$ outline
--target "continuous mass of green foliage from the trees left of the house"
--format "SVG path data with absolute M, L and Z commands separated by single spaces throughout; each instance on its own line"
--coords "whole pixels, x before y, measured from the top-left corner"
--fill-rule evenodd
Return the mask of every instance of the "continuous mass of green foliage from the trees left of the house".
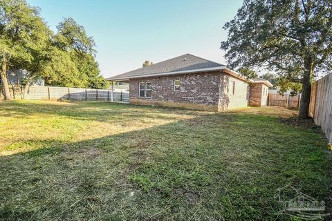
M 0 1 L 0 62 L 27 70 L 27 86 L 42 77 L 52 86 L 106 88 L 94 47 L 92 37 L 71 18 L 59 23 L 54 35 L 26 0 Z

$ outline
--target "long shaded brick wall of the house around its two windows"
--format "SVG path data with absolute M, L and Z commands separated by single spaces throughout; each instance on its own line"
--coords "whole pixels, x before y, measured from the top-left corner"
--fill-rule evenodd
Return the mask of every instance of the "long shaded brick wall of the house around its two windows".
M 130 79 L 129 99 L 218 105 L 220 74 L 210 72 Z M 174 91 L 174 79 L 181 81 L 179 91 Z M 146 81 L 151 82 L 151 98 L 138 96 L 139 82 Z

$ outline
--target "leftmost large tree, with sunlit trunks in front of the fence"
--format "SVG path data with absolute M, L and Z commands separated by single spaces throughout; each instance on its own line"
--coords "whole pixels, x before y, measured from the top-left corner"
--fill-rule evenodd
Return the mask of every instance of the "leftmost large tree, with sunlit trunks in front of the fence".
M 50 59 L 51 36 L 38 8 L 29 6 L 25 0 L 0 1 L 1 78 L 6 99 L 8 82 L 3 77 L 8 68 L 27 70 L 25 95 L 31 81 L 39 77 Z

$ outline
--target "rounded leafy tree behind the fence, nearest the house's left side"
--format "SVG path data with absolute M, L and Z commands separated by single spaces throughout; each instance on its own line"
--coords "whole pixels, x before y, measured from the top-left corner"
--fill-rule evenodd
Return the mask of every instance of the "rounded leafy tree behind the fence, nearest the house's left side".
M 53 45 L 59 51 L 54 49 L 46 82 L 56 86 L 107 88 L 107 81 L 100 75 L 95 61 L 95 41 L 86 35 L 84 27 L 74 19 L 66 18 L 57 30 Z M 67 55 L 63 57 L 63 53 Z M 65 65 L 61 65 L 62 62 Z

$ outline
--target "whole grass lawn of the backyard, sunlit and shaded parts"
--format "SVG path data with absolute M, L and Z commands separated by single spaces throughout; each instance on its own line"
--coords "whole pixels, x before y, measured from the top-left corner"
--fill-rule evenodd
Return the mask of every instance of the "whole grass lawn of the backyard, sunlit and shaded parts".
M 0 220 L 289 220 L 286 185 L 331 208 L 331 151 L 295 114 L 0 102 Z

